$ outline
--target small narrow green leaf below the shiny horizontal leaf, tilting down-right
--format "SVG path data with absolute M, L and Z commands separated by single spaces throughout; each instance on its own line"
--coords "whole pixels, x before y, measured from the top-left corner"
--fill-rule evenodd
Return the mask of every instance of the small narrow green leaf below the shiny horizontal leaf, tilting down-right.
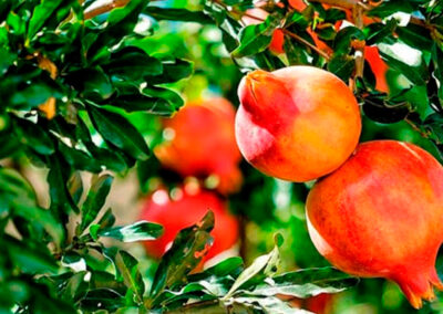
M 136 302 L 143 304 L 145 285 L 142 274 L 138 271 L 137 261 L 130 253 L 119 251 L 115 258 L 115 263 L 123 275 L 125 285 L 134 292 Z

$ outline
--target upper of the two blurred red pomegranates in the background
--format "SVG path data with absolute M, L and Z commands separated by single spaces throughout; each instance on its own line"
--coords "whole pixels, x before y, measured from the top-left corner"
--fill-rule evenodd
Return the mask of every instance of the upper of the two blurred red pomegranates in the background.
M 187 103 L 163 121 L 166 140 L 154 153 L 165 167 L 184 177 L 215 175 L 218 191 L 237 191 L 243 177 L 234 121 L 234 106 L 225 98 Z

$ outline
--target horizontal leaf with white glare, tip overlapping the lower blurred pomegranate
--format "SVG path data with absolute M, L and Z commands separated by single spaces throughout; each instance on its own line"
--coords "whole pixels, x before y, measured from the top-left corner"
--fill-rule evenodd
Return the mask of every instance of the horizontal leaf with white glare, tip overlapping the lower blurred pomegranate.
M 100 237 L 113 238 L 123 242 L 155 240 L 163 234 L 161 224 L 138 221 L 124 227 L 106 228 L 99 231 Z

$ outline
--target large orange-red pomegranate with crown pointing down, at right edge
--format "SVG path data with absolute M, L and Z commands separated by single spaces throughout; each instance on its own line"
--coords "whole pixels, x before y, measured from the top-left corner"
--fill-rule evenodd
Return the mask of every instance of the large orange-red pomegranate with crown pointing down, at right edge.
M 396 282 L 415 308 L 443 289 L 443 168 L 422 148 L 395 140 L 361 144 L 307 200 L 309 234 L 343 272 Z

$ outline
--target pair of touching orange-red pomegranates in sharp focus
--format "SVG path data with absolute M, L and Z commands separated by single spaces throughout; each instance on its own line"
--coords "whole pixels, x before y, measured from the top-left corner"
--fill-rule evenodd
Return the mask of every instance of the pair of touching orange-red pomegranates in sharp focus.
M 395 281 L 412 306 L 443 289 L 443 167 L 396 140 L 358 145 L 361 117 L 333 74 L 290 66 L 247 74 L 235 122 L 243 156 L 266 175 L 317 179 L 306 206 L 318 251 L 340 270 Z

